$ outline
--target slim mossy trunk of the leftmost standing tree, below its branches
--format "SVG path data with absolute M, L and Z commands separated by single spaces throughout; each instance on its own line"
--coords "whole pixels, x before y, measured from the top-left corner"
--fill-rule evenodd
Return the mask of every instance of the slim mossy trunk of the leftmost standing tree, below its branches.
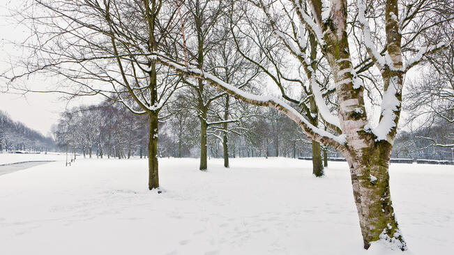
M 150 130 L 148 144 L 148 167 L 149 167 L 149 190 L 159 187 L 158 176 L 158 113 L 152 111 L 149 114 Z

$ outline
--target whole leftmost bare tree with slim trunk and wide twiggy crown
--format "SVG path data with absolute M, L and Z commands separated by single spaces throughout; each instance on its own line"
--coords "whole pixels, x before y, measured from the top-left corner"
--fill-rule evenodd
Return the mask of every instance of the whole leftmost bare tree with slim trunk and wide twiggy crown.
M 15 63 L 10 85 L 18 88 L 20 78 L 44 72 L 62 78 L 61 87 L 52 91 L 70 96 L 104 95 L 135 114 L 148 116 L 149 189 L 158 188 L 159 112 L 176 90 L 179 76 L 167 68 L 158 68 L 148 56 L 150 52 L 171 52 L 174 48 L 169 38 L 175 27 L 174 3 L 149 0 L 27 3 L 27 9 L 17 15 L 33 31 L 33 36 L 22 45 L 31 56 L 22 65 Z

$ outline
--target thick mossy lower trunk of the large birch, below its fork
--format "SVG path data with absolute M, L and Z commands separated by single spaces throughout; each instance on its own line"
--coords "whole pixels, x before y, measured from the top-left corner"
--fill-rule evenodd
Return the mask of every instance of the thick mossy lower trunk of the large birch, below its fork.
M 370 247 L 370 242 L 380 239 L 396 242 L 402 250 L 406 249 L 389 190 L 391 148 L 382 141 L 376 148 L 364 148 L 362 157 L 355 153 L 346 156 L 365 249 Z

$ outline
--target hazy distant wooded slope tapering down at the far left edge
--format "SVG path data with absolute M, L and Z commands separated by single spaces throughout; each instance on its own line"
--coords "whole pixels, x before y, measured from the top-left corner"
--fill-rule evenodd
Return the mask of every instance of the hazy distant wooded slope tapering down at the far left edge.
M 0 111 L 0 152 L 13 150 L 42 152 L 54 148 L 54 140 L 51 137 L 45 137 L 23 123 L 13 121 L 8 114 Z

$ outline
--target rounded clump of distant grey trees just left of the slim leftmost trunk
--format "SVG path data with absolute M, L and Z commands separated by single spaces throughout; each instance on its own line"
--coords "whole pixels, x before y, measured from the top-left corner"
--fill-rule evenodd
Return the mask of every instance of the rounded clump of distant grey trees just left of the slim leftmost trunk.
M 60 150 L 84 157 L 130 158 L 146 155 L 147 120 L 112 103 L 75 107 L 52 127 Z

